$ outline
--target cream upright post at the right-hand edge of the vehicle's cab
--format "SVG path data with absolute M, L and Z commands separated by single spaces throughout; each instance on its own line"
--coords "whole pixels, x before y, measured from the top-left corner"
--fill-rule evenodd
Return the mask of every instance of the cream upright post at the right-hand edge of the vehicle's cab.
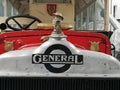
M 104 29 L 108 31 L 109 29 L 109 0 L 104 0 L 105 10 L 104 10 Z

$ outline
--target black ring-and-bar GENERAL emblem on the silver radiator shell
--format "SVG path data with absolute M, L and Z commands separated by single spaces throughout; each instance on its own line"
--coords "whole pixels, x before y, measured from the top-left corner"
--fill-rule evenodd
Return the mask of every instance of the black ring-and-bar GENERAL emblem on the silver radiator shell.
M 57 51 L 62 51 L 62 53 Z M 50 72 L 62 73 L 67 71 L 72 64 L 83 64 L 83 56 L 72 54 L 64 45 L 55 44 L 48 47 L 44 54 L 33 54 L 32 63 L 44 64 Z

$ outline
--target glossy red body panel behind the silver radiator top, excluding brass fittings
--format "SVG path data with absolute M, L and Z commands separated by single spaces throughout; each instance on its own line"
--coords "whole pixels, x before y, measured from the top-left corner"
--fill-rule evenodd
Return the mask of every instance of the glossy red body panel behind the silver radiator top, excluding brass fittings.
M 0 35 L 0 54 L 6 52 L 4 41 L 13 41 L 14 50 L 39 46 L 41 36 L 50 35 L 52 30 L 34 30 L 6 32 Z M 111 45 L 107 36 L 94 32 L 64 31 L 67 40 L 81 49 L 90 50 L 91 42 L 99 42 L 99 52 L 111 54 Z

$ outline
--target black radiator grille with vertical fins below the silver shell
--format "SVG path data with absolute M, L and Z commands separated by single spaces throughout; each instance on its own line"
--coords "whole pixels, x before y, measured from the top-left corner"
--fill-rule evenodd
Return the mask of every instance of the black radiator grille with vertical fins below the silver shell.
M 1 77 L 0 90 L 120 90 L 120 78 Z

